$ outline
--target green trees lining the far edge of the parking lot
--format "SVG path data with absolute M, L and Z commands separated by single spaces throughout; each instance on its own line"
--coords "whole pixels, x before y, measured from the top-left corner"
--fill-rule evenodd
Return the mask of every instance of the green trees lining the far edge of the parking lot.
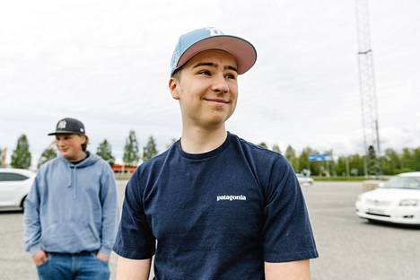
M 173 143 L 175 139 L 172 139 Z M 258 145 L 269 149 L 264 142 Z M 271 150 L 276 153 L 282 153 L 278 144 L 274 144 Z M 1 149 L 0 149 L 1 153 Z M 153 158 L 159 151 L 157 150 L 155 139 L 149 136 L 143 150 L 140 150 L 136 132 L 129 131 L 126 144 L 124 146 L 123 162 L 127 165 L 137 165 L 140 161 L 147 161 Z M 366 155 L 358 153 L 339 156 L 329 162 L 310 162 L 311 154 L 319 153 L 319 151 L 306 147 L 300 153 L 297 153 L 291 145 L 287 146 L 284 156 L 292 164 L 294 171 L 310 172 L 314 176 L 363 176 L 366 169 L 366 162 L 372 157 L 376 157 L 374 152 Z M 331 156 L 333 151 L 324 151 Z M 115 157 L 112 154 L 112 148 L 107 139 L 101 141 L 96 150 L 96 154 L 101 156 L 110 165 L 115 163 Z M 55 148 L 49 147 L 39 157 L 38 167 L 44 163 L 57 157 Z M 1 158 L 1 154 L 0 154 Z M 420 171 L 420 147 L 416 149 L 404 148 L 401 153 L 393 149 L 387 149 L 377 157 L 380 162 L 379 170 L 384 175 L 395 175 L 401 172 Z M 19 137 L 16 148 L 13 150 L 11 165 L 14 168 L 28 169 L 31 166 L 31 152 L 29 148 L 28 138 L 25 135 Z

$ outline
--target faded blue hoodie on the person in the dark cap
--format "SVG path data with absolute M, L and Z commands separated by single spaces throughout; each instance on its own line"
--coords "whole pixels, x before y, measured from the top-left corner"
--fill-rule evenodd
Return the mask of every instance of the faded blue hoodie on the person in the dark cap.
M 108 255 L 118 223 L 117 188 L 109 164 L 95 154 L 74 165 L 43 164 L 24 203 L 25 249 L 32 255 L 99 250 Z

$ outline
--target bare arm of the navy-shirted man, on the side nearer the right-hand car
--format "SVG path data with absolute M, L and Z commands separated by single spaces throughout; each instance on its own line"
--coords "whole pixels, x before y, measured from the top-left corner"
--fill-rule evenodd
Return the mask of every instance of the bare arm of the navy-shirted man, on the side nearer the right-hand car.
M 311 279 L 310 273 L 310 260 L 296 260 L 290 262 L 280 263 L 264 263 L 264 269 L 267 280 L 309 280 Z

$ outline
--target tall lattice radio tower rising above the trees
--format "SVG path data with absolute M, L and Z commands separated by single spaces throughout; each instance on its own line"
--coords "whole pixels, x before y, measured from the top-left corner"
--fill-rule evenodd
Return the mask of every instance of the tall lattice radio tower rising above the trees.
M 364 153 L 366 155 L 364 175 L 379 175 L 381 164 L 378 156 L 381 155 L 381 145 L 368 0 L 355 0 L 355 4 L 359 45 L 357 57 L 359 60 L 359 84 L 362 100 L 363 140 Z

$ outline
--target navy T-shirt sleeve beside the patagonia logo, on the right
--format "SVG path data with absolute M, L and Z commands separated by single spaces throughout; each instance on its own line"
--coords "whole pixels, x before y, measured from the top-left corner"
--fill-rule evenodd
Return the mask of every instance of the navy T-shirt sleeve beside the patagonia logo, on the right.
M 318 258 L 301 186 L 283 157 L 273 163 L 265 192 L 264 260 Z

